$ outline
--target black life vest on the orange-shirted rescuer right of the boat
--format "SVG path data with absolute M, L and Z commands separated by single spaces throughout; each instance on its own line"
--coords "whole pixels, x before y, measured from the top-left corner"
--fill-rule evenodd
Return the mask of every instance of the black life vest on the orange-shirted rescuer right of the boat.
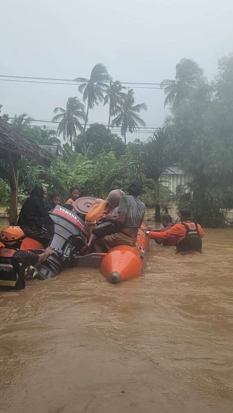
M 176 247 L 177 253 L 198 251 L 201 253 L 202 241 L 196 222 L 181 222 L 186 228 L 186 235 Z

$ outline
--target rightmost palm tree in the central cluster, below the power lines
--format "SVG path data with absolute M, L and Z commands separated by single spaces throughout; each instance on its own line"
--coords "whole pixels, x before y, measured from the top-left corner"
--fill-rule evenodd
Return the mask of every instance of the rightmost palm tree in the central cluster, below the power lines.
M 112 121 L 111 127 L 121 127 L 120 133 L 124 137 L 124 143 L 126 144 L 126 132 L 135 132 L 138 129 L 138 125 L 146 126 L 144 120 L 137 115 L 141 110 L 146 111 L 147 105 L 145 103 L 138 103 L 135 105 L 135 99 L 133 97 L 133 89 L 129 89 L 128 93 L 124 93 L 122 102 L 116 106 L 115 114 L 118 114 Z

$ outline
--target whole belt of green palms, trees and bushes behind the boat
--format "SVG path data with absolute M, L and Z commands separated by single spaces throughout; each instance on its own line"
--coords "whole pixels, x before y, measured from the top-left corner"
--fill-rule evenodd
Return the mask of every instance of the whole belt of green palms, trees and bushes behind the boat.
M 145 142 L 126 143 L 127 132 L 145 126 L 139 113 L 147 106 L 135 102 L 133 89 L 126 92 L 103 64 L 93 67 L 90 79 L 75 80 L 81 83 L 78 89 L 86 112 L 77 96 L 69 97 L 66 109 L 54 109 L 57 132 L 33 126 L 33 118 L 26 113 L 12 120 L 28 139 L 40 145 L 59 145 L 62 153 L 58 158 L 51 153 L 50 168 L 21 159 L 20 199 L 39 182 L 50 191 L 59 191 L 66 200 L 72 185 L 104 198 L 110 190 L 126 190 L 130 180 L 139 179 L 145 187 L 141 199 L 155 207 L 156 221 L 160 210 L 166 211 L 175 199 L 178 207 L 190 206 L 204 226 L 224 225 L 224 210 L 233 208 L 233 54 L 219 61 L 212 82 L 196 62 L 182 59 L 176 65 L 175 79 L 161 83 L 165 106 L 170 109 L 165 126 Z M 107 127 L 93 124 L 86 128 L 89 110 L 100 103 L 109 105 Z M 9 121 L 7 114 L 1 116 Z M 111 127 L 120 128 L 124 142 Z M 67 143 L 62 145 L 59 137 Z M 166 170 L 174 163 L 190 176 L 186 193 L 178 186 L 176 196 L 163 186 Z M 7 169 L 7 161 L 2 159 L 1 170 L 6 174 L 4 181 L 0 180 L 1 205 L 9 202 Z

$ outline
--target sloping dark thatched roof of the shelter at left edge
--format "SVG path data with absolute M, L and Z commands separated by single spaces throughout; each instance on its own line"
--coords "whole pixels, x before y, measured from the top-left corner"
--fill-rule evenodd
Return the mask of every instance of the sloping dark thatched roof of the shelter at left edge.
M 35 159 L 40 164 L 50 165 L 48 153 L 36 143 L 29 141 L 22 133 L 0 117 L 0 149 Z

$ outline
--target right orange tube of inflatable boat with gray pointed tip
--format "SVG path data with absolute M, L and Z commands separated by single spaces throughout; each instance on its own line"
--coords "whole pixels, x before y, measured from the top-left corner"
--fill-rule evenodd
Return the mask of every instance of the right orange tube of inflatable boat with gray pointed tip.
M 143 227 L 147 228 L 144 222 L 138 230 L 136 247 L 119 245 L 104 254 L 100 272 L 111 283 L 115 284 L 142 275 L 144 256 L 148 246 L 148 237 Z

